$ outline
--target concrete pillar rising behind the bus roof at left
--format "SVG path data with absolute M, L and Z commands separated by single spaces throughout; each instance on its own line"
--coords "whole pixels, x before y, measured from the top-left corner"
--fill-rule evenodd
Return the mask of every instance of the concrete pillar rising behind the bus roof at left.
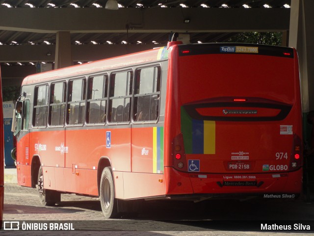
M 71 37 L 69 31 L 58 31 L 55 43 L 54 69 L 72 66 Z

